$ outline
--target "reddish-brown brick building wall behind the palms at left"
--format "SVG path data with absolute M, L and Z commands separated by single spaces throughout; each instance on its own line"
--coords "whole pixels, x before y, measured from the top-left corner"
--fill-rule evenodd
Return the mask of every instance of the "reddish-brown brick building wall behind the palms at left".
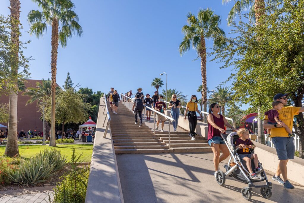
M 40 82 L 41 80 L 25 80 L 24 85 L 26 88 L 28 87 L 35 87 L 36 82 Z M 28 96 L 22 96 L 23 92 L 18 93 L 18 108 L 17 108 L 17 115 L 18 115 L 18 132 L 22 129 L 24 131 L 42 131 L 42 121 L 40 117 L 42 113 L 39 111 L 39 107 L 37 107 L 37 103 L 32 103 L 26 105 L 26 102 L 29 100 Z M 2 95 L 0 96 L 0 103 L 9 103 L 9 95 Z M 8 126 L 8 123 L 1 123 L 2 125 Z M 46 130 L 48 126 L 45 126 Z M 2 128 L 3 129 L 3 128 Z M 48 135 L 48 131 L 45 131 L 46 135 Z

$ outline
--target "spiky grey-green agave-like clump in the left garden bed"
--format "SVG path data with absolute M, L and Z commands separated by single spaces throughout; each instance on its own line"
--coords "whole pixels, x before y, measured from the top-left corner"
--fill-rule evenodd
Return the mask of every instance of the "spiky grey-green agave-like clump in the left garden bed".
M 55 170 L 64 167 L 66 157 L 58 149 L 44 149 L 32 158 L 21 162 L 15 172 L 9 174 L 15 184 L 35 185 L 46 181 Z

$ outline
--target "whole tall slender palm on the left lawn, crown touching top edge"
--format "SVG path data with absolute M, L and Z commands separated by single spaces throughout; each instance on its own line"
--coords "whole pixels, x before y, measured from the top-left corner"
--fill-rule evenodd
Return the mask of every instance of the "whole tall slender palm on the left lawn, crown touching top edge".
M 56 146 L 55 142 L 55 92 L 56 92 L 56 72 L 57 72 L 57 55 L 58 44 L 60 42 L 62 47 L 67 46 L 67 39 L 73 34 L 81 37 L 83 31 L 78 24 L 78 15 L 74 12 L 74 3 L 70 0 L 33 0 L 42 9 L 31 10 L 27 16 L 30 26 L 30 33 L 35 34 L 36 37 L 42 37 L 43 33 L 47 31 L 47 24 L 52 26 L 51 36 L 51 136 L 50 146 Z

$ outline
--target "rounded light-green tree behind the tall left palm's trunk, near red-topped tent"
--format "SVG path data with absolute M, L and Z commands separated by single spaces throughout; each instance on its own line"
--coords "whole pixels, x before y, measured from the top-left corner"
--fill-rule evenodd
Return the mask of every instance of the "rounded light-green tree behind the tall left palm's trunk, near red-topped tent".
M 62 125 L 64 131 L 64 124 L 80 123 L 88 118 L 88 110 L 91 105 L 83 103 L 83 96 L 75 93 L 73 89 L 60 91 L 56 95 L 56 122 Z M 51 100 L 47 101 L 47 106 L 44 108 L 44 115 L 47 121 L 51 118 Z M 40 110 L 42 107 L 40 107 Z

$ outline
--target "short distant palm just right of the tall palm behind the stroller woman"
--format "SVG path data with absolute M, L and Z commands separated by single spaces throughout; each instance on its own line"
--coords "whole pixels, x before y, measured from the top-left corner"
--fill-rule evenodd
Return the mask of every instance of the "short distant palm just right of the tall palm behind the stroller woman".
M 226 103 L 232 100 L 233 92 L 228 87 L 217 87 L 216 91 L 211 95 L 210 103 L 218 103 L 221 105 L 222 114 L 225 114 Z

